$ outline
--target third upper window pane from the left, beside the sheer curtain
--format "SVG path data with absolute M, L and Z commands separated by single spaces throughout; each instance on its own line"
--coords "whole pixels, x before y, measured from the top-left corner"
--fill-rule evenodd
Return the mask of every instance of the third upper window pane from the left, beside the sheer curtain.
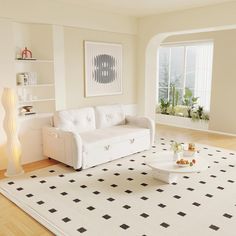
M 197 46 L 186 47 L 186 82 L 185 87 L 194 89 L 196 73 L 196 50 Z

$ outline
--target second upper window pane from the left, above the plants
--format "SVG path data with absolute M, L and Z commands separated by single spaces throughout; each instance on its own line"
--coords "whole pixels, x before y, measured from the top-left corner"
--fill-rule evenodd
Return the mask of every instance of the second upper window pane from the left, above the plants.
M 170 82 L 183 88 L 184 78 L 184 47 L 171 48 Z

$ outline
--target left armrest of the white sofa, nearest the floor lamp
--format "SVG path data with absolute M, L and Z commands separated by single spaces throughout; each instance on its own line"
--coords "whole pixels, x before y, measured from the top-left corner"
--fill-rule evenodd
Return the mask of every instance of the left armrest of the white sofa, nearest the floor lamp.
M 76 132 L 43 127 L 43 154 L 79 169 L 83 161 L 81 137 Z

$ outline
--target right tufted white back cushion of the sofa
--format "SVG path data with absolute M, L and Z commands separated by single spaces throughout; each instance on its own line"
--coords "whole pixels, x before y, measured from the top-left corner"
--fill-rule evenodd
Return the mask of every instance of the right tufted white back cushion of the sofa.
M 95 114 L 97 129 L 125 124 L 125 112 L 122 105 L 97 106 Z

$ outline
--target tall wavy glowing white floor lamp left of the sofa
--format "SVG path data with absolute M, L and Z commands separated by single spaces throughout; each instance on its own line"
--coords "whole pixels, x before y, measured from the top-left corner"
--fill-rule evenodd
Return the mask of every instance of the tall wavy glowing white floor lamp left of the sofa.
M 2 104 L 5 109 L 3 127 L 7 136 L 8 165 L 5 176 L 16 176 L 24 173 L 21 166 L 21 145 L 17 135 L 17 102 L 13 88 L 4 88 Z

